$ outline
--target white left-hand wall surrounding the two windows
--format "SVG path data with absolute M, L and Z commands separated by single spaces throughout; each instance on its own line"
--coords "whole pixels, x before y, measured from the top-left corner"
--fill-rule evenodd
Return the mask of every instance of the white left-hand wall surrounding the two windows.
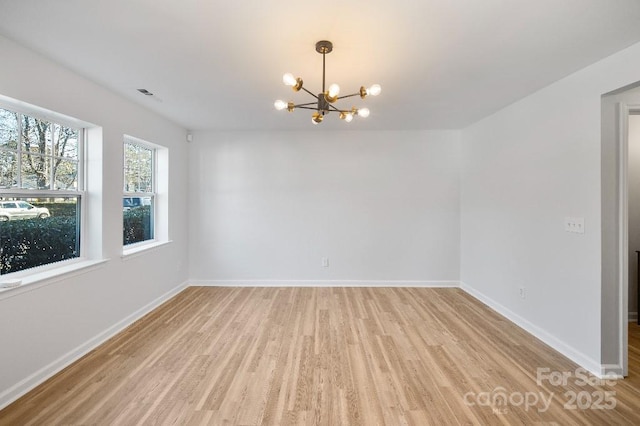
M 88 221 L 102 230 L 102 252 L 109 259 L 84 273 L 34 285 L 32 291 L 0 294 L 2 407 L 88 349 L 101 333 L 186 282 L 188 184 L 184 129 L 2 37 L 0 52 L 0 94 L 102 127 L 102 152 L 97 153 L 102 163 L 89 166 L 103 168 L 103 180 L 91 195 L 100 198 L 102 210 L 91 212 Z M 120 256 L 123 134 L 170 150 L 173 240 L 126 261 Z M 96 142 L 89 141 L 89 150 L 100 149 Z

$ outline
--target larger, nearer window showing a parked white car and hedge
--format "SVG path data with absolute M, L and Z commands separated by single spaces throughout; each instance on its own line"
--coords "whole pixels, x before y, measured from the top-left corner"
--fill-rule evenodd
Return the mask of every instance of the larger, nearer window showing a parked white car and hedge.
M 0 107 L 0 275 L 80 256 L 83 138 Z

